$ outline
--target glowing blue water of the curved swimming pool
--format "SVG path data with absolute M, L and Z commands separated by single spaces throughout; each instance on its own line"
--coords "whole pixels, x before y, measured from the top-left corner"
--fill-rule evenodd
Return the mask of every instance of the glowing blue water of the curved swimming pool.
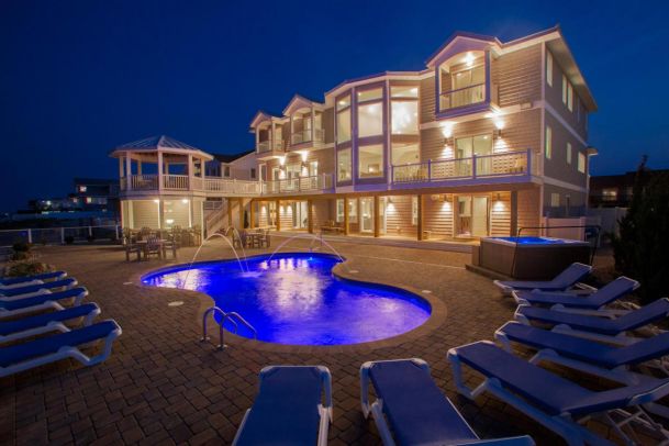
M 271 261 L 268 256 L 249 258 L 248 272 L 242 272 L 236 260 L 224 260 L 196 264 L 190 272 L 188 267 L 160 270 L 142 281 L 207 293 L 225 312 L 236 311 L 247 320 L 259 341 L 278 344 L 379 341 L 430 317 L 430 304 L 413 293 L 334 277 L 337 263 L 324 254 L 281 254 Z M 242 326 L 237 334 L 252 337 Z

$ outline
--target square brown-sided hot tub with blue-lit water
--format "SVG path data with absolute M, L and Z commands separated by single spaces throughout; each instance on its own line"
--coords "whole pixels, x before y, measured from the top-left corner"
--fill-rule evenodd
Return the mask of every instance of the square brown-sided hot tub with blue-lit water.
M 590 264 L 588 242 L 550 237 L 481 238 L 478 265 L 522 280 L 549 280 L 575 261 Z

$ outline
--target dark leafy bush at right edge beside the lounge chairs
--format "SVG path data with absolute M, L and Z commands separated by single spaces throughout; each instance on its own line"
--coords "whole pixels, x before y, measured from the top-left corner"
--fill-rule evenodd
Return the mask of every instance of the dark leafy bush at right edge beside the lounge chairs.
M 637 170 L 632 202 L 612 237 L 615 268 L 638 280 L 644 304 L 669 296 L 669 175 Z

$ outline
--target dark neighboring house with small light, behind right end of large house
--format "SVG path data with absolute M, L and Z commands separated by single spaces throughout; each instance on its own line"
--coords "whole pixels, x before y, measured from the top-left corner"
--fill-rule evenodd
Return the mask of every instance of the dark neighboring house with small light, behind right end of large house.
M 648 181 L 654 175 L 669 174 L 669 169 L 646 170 L 644 180 Z M 590 177 L 591 208 L 627 208 L 632 201 L 636 171 L 621 175 L 599 175 Z

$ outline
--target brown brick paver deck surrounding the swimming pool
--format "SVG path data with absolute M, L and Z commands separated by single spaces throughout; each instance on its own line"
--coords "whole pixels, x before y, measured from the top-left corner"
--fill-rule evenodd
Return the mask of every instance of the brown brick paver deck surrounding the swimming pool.
M 272 243 L 276 247 L 280 239 Z M 303 250 L 310 244 L 293 241 L 283 250 Z M 213 344 L 199 342 L 201 312 L 212 303 L 207 296 L 140 285 L 143 274 L 174 260 L 126 263 L 119 246 L 38 248 L 43 261 L 67 270 L 89 289 L 88 300 L 102 309 L 100 319 L 115 319 L 123 335 L 101 365 L 85 368 L 63 360 L 0 379 L 0 443 L 230 444 L 253 402 L 263 367 L 319 364 L 333 376 L 330 444 L 380 444 L 373 422 L 364 420 L 359 409 L 359 367 L 372 359 L 420 357 L 479 436 L 529 434 L 537 444 L 559 444 L 559 437 L 499 400 L 484 395 L 470 402 L 455 391 L 448 348 L 491 339 L 515 310 L 490 279 L 465 269 L 469 254 L 333 245 L 347 258 L 346 268 L 358 271 L 337 267 L 342 275 L 428 290 L 424 296 L 436 302 L 438 314 L 427 326 L 379 343 L 277 347 L 227 336 L 228 348 L 218 352 Z M 248 249 L 247 254 L 261 252 Z M 181 249 L 178 263 L 188 263 L 193 253 L 193 248 Z M 212 241 L 198 259 L 231 257 L 230 248 Z M 172 301 L 183 304 L 169 306 Z M 473 373 L 468 371 L 467 377 L 468 382 L 477 382 Z M 610 435 L 601 423 L 590 422 L 590 427 Z

